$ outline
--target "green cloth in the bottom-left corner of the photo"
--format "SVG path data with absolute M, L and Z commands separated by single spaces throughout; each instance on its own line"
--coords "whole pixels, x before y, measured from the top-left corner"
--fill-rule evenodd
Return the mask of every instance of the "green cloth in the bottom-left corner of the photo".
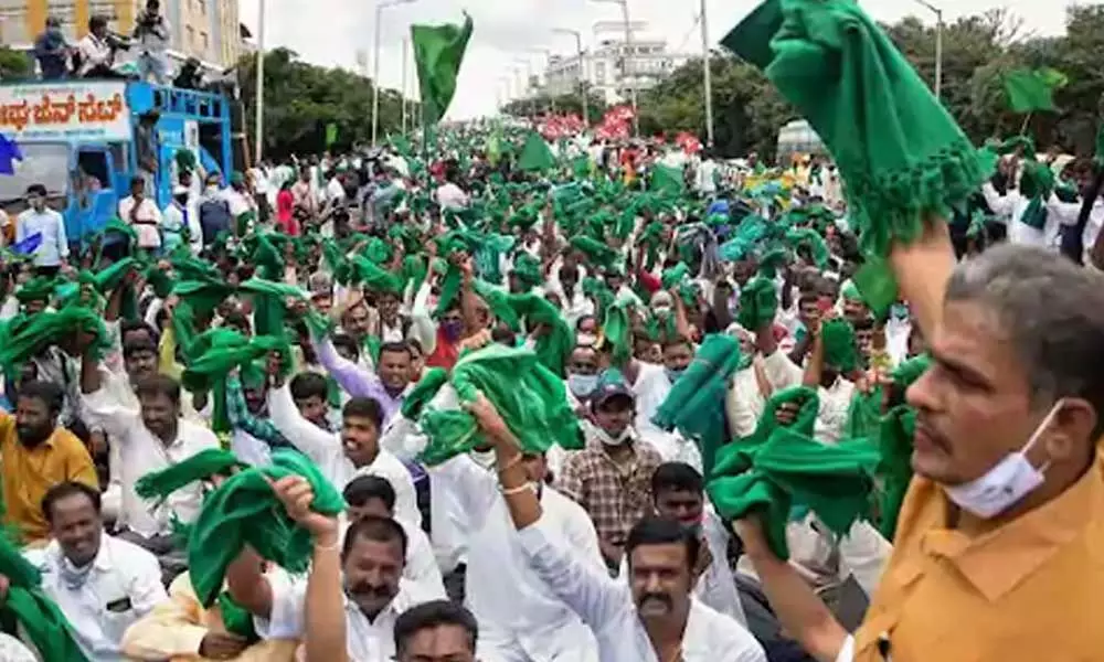
M 0 535 L 0 575 L 8 578 L 8 597 L 0 616 L 14 620 L 43 660 L 86 662 L 61 608 L 42 590 L 42 574 L 4 535 Z

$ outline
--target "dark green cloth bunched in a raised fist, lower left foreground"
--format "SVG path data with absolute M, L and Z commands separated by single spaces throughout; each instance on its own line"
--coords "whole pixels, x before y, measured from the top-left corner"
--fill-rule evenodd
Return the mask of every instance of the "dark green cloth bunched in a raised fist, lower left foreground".
M 197 456 L 199 457 L 199 456 Z M 188 463 L 195 458 L 184 460 Z M 268 467 L 248 467 L 227 478 L 209 493 L 192 523 L 188 536 L 188 570 L 195 596 L 203 607 L 210 608 L 217 600 L 226 577 L 226 567 L 250 545 L 262 558 L 272 560 L 293 574 L 305 573 L 310 563 L 314 540 L 310 532 L 299 527 L 284 510 L 269 481 L 288 476 L 300 476 L 315 492 L 311 509 L 325 515 L 337 516 L 344 510 L 344 499 L 322 476 L 321 470 L 302 453 L 294 450 L 273 451 Z M 181 474 L 201 480 L 223 465 L 211 457 L 197 460 L 198 467 L 177 470 Z M 167 498 L 179 489 L 180 480 L 161 480 L 160 476 L 147 477 L 149 498 Z

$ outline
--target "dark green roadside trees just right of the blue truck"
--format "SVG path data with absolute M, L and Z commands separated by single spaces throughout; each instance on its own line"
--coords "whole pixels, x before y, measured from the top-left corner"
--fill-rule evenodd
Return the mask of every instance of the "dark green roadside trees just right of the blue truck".
M 248 117 L 256 104 L 256 57 L 238 64 L 242 102 Z M 327 68 L 298 60 L 287 49 L 265 55 L 265 154 L 316 153 L 326 149 L 327 127 L 337 127 L 331 150 L 347 151 L 372 139 L 372 81 L 341 68 Z M 418 125 L 418 109 L 407 102 L 408 128 Z M 246 122 L 250 140 L 253 122 Z M 379 139 L 402 131 L 402 97 L 394 89 L 380 90 Z

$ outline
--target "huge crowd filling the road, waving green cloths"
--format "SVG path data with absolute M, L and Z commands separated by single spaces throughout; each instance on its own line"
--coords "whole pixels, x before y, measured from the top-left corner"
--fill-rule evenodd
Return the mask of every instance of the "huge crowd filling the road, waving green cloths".
M 415 153 L 182 156 L 81 242 L 28 190 L 0 658 L 1100 656 L 1089 160 L 987 145 L 879 254 L 826 156 Z

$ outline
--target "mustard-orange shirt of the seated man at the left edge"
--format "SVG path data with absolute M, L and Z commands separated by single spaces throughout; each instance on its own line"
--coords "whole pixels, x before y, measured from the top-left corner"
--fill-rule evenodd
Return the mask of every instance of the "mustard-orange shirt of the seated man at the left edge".
M 50 536 L 42 515 L 42 498 L 50 488 L 72 480 L 99 489 L 92 456 L 73 433 L 57 428 L 38 447 L 26 448 L 15 434 L 15 417 L 2 413 L 0 465 L 4 524 L 18 526 L 26 543 Z

